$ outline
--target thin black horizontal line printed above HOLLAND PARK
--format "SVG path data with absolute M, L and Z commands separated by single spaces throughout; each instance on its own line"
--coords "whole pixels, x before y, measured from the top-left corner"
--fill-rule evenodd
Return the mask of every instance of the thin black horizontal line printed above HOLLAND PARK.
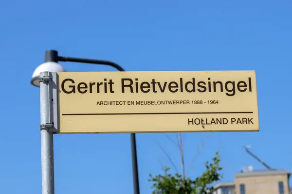
M 197 113 L 73 113 L 62 114 L 64 116 L 70 115 L 135 115 L 135 114 L 248 114 L 254 112 L 197 112 Z

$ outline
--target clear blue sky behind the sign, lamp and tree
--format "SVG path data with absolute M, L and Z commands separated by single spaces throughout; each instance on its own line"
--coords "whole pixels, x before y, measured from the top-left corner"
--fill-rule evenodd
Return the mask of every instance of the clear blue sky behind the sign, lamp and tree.
M 292 171 L 291 0 L 12 0 L 0 4 L 0 193 L 41 192 L 39 89 L 30 85 L 46 49 L 114 61 L 128 71 L 256 70 L 260 131 L 185 133 L 186 163 L 208 140 L 189 172 L 219 151 L 225 178 L 243 166 Z M 68 71 L 113 71 L 62 63 Z M 170 134 L 175 138 L 175 134 Z M 141 194 L 158 156 L 179 168 L 178 149 L 164 134 L 137 134 Z M 131 194 L 129 134 L 55 135 L 56 194 Z

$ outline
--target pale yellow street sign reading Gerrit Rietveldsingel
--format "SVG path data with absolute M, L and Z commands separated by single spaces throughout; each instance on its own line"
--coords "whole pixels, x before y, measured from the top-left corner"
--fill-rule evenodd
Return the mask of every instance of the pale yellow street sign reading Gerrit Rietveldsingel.
M 58 133 L 259 130 L 255 71 L 56 76 Z

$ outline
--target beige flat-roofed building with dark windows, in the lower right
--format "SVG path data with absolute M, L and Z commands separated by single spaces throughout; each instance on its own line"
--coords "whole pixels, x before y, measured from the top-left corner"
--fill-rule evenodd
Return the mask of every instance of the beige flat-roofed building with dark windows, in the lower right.
M 286 170 L 245 171 L 235 174 L 234 182 L 221 182 L 212 194 L 292 194 L 290 172 Z

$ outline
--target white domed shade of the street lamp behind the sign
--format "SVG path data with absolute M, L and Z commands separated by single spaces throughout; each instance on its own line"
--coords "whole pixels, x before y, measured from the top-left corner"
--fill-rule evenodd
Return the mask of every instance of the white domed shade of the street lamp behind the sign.
M 34 73 L 33 73 L 33 76 L 32 76 L 32 79 L 31 79 L 31 84 L 33 84 L 34 86 L 37 86 L 39 87 L 39 74 L 41 72 L 44 72 L 44 71 L 49 71 L 49 72 L 65 72 L 66 69 L 58 64 L 58 63 L 55 63 L 55 62 L 46 62 L 46 63 L 43 63 L 41 65 L 39 65 Z

